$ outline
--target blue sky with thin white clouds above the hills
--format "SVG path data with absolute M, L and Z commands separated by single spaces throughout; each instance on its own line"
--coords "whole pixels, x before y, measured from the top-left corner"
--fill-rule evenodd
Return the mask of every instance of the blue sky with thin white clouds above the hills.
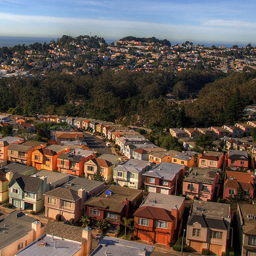
M 0 36 L 97 35 L 256 46 L 256 1 L 0 0 Z

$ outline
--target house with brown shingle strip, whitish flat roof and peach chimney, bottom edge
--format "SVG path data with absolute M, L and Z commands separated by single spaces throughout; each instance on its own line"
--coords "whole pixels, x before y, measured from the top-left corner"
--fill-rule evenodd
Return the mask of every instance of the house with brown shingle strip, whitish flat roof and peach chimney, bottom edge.
M 70 224 L 49 221 L 45 232 L 15 256 L 89 256 L 91 252 L 91 228 L 80 228 Z

